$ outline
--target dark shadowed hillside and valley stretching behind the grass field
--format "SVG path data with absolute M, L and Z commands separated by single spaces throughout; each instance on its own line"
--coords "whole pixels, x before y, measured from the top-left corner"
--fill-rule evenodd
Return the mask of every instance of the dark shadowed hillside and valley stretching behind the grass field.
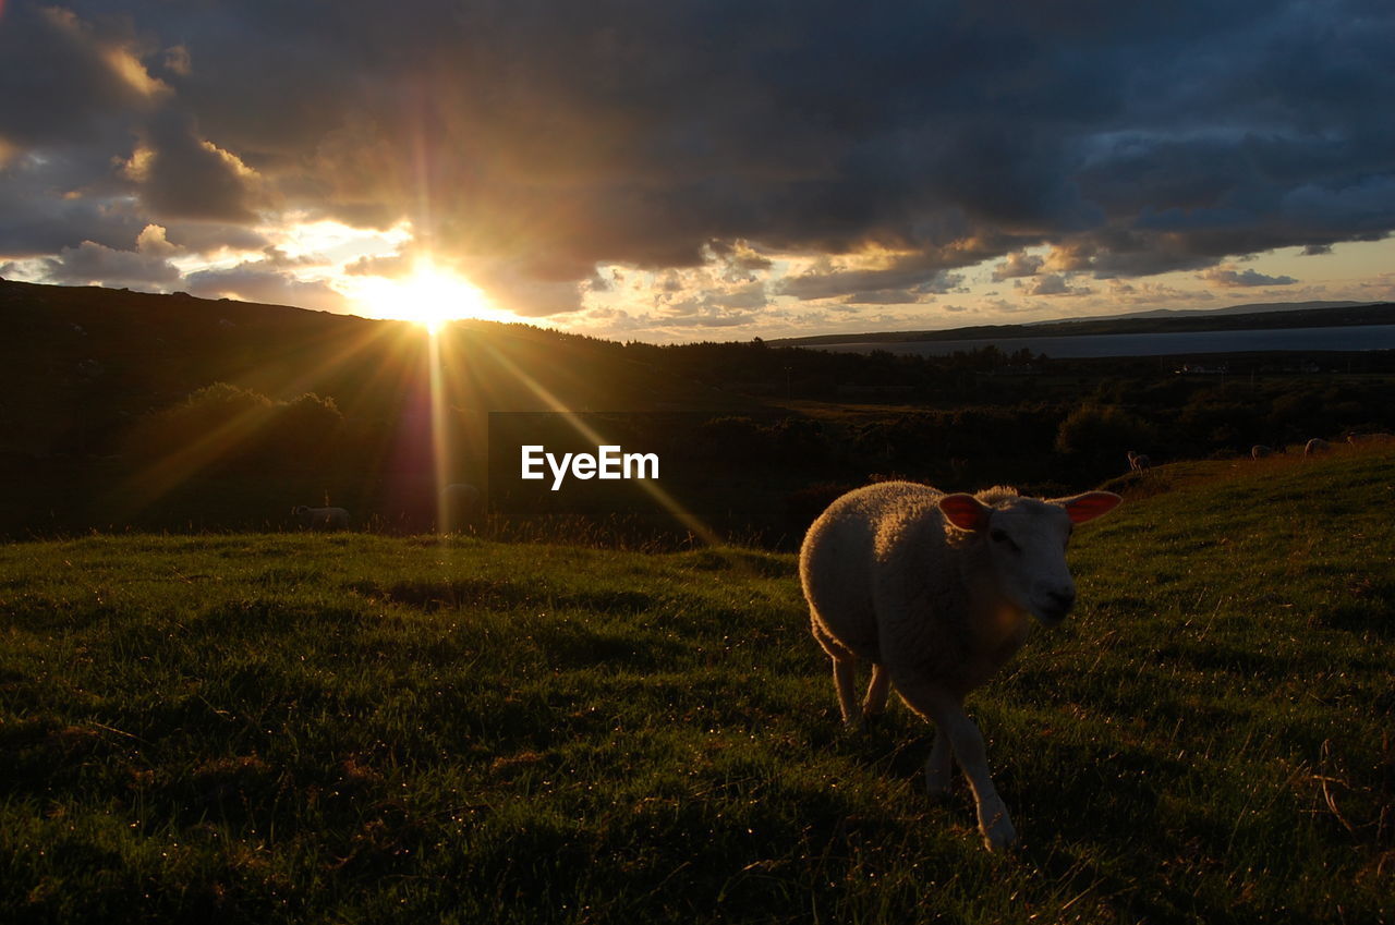
M 633 486 L 519 480 L 518 446 L 605 442 L 658 455 L 667 499 L 717 534 L 788 550 L 873 476 L 1064 494 L 1130 448 L 1204 458 L 1395 430 L 1389 357 L 1183 381 L 1155 361 L 660 347 L 490 322 L 432 342 L 403 322 L 25 283 L 0 283 L 0 480 L 24 486 L 0 492 L 13 539 L 264 532 L 301 504 L 417 533 L 441 522 L 442 484 L 469 483 L 488 499 L 469 525 L 481 536 L 686 544 L 691 519 Z M 545 414 L 558 407 L 586 414 Z

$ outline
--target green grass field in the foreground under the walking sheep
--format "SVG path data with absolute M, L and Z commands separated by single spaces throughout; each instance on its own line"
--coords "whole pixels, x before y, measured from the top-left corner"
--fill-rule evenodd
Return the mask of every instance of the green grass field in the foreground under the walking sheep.
M 1395 455 L 1179 463 L 971 699 L 844 734 L 794 559 L 0 547 L 4 922 L 1388 922 Z

